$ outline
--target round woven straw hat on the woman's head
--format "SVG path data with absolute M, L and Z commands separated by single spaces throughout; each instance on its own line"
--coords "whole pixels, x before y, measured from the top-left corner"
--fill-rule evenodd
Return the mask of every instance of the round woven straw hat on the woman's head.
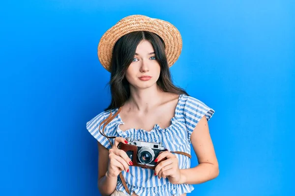
M 177 28 L 167 21 L 149 18 L 144 15 L 127 16 L 101 37 L 97 50 L 98 59 L 102 66 L 111 71 L 112 53 L 115 43 L 123 35 L 133 31 L 150 31 L 156 33 L 165 42 L 165 53 L 169 67 L 171 67 L 178 59 L 182 49 L 182 39 Z

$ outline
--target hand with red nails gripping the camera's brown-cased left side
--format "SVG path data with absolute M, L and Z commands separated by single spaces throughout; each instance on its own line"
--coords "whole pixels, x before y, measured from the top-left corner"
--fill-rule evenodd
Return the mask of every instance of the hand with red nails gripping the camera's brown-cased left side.
M 106 177 L 118 177 L 119 173 L 123 170 L 129 172 L 129 165 L 133 165 L 126 152 L 118 149 L 118 144 L 120 142 L 128 143 L 124 138 L 115 138 L 115 144 L 109 150 L 109 166 Z

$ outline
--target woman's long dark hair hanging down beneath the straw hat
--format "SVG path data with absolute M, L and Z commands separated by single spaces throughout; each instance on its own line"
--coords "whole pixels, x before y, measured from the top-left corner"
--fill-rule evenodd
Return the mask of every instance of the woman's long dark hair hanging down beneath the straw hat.
M 185 90 L 176 87 L 172 82 L 163 39 L 149 31 L 134 31 L 122 36 L 114 46 L 109 82 L 112 101 L 105 111 L 121 107 L 130 97 L 129 82 L 125 77 L 125 73 L 134 58 L 137 46 L 142 40 L 151 43 L 155 50 L 156 60 L 160 64 L 161 71 L 157 80 L 159 88 L 163 92 L 188 95 Z

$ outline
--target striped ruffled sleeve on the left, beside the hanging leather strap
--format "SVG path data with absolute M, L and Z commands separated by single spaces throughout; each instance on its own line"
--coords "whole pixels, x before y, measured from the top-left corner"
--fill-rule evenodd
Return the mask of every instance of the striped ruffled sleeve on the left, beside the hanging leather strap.
M 103 136 L 100 132 L 99 132 L 99 124 L 105 120 L 106 118 L 108 118 L 108 116 L 110 115 L 110 111 L 106 111 L 106 112 L 102 112 L 100 114 L 98 114 L 96 117 L 94 117 L 93 119 L 91 119 L 89 122 L 86 123 L 86 128 L 88 129 L 89 133 L 105 148 L 110 149 L 111 148 L 111 144 L 109 142 L 109 140 Z M 102 131 L 103 128 L 103 124 L 100 126 L 100 130 Z M 104 133 L 109 136 L 109 129 L 108 129 L 108 125 L 105 127 Z

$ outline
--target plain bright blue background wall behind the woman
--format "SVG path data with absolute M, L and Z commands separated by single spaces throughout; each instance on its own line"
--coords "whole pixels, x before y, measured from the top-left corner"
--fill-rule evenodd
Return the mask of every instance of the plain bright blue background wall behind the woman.
M 97 45 L 132 14 L 179 29 L 174 82 L 216 111 L 220 174 L 191 195 L 293 195 L 293 0 L 1 2 L 0 195 L 99 195 L 86 122 L 109 104 L 110 74 Z

